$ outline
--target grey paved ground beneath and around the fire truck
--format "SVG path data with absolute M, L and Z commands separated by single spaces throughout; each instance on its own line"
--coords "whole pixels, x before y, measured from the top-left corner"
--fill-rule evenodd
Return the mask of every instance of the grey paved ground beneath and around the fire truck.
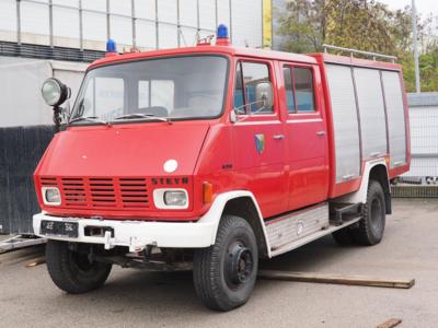
M 105 286 L 68 295 L 45 265 L 26 268 L 42 248 L 0 255 L 1 327 L 437 327 L 438 201 L 394 200 L 385 237 L 374 247 L 339 247 L 330 236 L 264 261 L 265 269 L 415 278 L 410 290 L 257 281 L 249 303 L 206 309 L 191 272 L 114 268 Z

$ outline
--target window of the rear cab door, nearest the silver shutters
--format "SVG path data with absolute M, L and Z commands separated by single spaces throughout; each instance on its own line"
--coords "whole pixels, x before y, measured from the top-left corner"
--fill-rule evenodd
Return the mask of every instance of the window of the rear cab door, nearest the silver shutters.
M 313 71 L 311 68 L 289 67 L 283 69 L 286 103 L 289 113 L 316 112 L 314 105 Z

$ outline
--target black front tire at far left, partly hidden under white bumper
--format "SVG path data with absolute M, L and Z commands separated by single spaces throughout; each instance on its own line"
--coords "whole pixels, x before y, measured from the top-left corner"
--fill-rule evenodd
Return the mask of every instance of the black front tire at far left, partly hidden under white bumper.
M 51 280 L 62 291 L 82 294 L 102 286 L 112 269 L 111 263 L 90 262 L 87 254 L 69 248 L 68 243 L 48 241 L 47 269 Z

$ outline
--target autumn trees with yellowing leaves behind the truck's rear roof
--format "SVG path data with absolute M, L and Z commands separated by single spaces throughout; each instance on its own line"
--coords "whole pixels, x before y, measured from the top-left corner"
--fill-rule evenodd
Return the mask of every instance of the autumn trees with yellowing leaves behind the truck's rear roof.
M 425 51 L 419 58 L 424 91 L 438 91 L 437 37 L 430 37 L 433 20 L 424 20 L 417 28 Z M 314 52 L 321 51 L 323 44 L 332 44 L 394 55 L 403 65 L 406 90 L 415 90 L 408 7 L 390 10 L 376 0 L 292 0 L 278 21 L 277 33 L 285 39 L 283 50 Z

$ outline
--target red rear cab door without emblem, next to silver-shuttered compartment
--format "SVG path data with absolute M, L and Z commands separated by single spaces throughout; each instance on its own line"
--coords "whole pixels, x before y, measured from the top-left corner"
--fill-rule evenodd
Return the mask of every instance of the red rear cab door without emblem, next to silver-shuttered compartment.
M 288 164 L 288 208 L 321 202 L 328 194 L 327 127 L 319 68 L 283 63 L 283 108 Z

